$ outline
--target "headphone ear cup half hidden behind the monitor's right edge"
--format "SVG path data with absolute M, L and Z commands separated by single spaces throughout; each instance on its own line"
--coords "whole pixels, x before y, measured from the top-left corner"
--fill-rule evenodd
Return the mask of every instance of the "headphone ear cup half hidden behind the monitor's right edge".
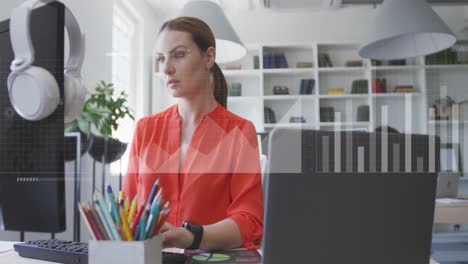
M 88 90 L 78 77 L 65 73 L 65 91 L 64 91 L 64 122 L 69 123 L 77 119 L 86 102 Z

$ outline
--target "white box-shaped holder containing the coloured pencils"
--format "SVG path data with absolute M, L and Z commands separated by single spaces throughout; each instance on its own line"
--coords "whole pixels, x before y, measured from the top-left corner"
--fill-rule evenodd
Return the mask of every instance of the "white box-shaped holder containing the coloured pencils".
M 145 241 L 91 240 L 89 264 L 162 264 L 161 236 Z

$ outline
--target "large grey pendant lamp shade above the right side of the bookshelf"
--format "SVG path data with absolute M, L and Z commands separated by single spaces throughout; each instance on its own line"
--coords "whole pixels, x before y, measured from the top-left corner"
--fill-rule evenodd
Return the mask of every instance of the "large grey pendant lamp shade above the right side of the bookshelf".
M 377 60 L 404 59 L 451 47 L 456 38 L 427 0 L 385 0 L 359 55 Z

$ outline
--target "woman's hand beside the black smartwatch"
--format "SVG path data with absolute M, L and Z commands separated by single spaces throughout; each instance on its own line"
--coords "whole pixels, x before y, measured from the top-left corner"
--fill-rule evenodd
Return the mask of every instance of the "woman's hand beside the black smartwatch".
M 192 232 L 182 227 L 175 227 L 168 222 L 161 227 L 162 247 L 188 248 L 195 238 Z

